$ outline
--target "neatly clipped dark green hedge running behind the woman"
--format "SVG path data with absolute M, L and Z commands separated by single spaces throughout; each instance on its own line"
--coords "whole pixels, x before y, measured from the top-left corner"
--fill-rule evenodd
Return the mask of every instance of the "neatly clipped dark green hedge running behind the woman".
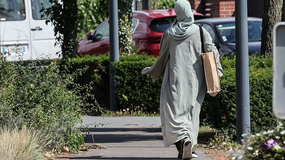
M 120 61 L 114 63 L 116 92 L 122 109 L 142 107 L 150 113 L 159 111 L 162 78 L 152 84 L 149 75 L 141 75 L 141 70 L 151 66 L 156 59 L 148 55 L 131 55 L 121 56 Z M 220 78 L 221 92 L 216 97 L 206 95 L 200 119 L 201 123 L 235 134 L 235 57 L 222 57 L 220 61 L 224 69 L 224 76 Z M 93 81 L 95 98 L 102 107 L 109 108 L 108 57 L 88 55 L 78 57 L 73 62 L 74 68 L 89 66 L 86 74 L 79 77 L 77 82 L 86 84 Z M 266 130 L 276 122 L 272 113 L 272 59 L 250 57 L 249 65 L 251 127 Z

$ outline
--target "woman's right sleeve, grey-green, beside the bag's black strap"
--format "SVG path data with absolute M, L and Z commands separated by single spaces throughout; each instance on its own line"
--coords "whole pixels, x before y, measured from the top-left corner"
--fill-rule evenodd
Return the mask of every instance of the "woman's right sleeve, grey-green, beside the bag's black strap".
M 223 68 L 221 66 L 221 63 L 219 61 L 220 59 L 220 54 L 218 52 L 217 47 L 215 46 L 215 44 L 213 43 L 213 39 L 211 38 L 211 35 L 209 34 L 209 32 L 203 28 L 203 32 L 204 32 L 204 46 L 205 46 L 205 51 L 206 52 L 212 52 L 215 51 L 216 54 L 216 61 L 217 61 L 217 67 L 218 67 L 218 72 L 219 72 L 219 77 L 223 76 Z

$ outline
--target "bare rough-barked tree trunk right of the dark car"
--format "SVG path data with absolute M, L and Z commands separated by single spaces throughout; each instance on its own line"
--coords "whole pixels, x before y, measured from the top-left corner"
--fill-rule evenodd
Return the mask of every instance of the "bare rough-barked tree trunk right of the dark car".
M 272 57 L 272 30 L 273 26 L 280 22 L 283 0 L 264 0 L 262 34 L 261 34 L 261 54 Z

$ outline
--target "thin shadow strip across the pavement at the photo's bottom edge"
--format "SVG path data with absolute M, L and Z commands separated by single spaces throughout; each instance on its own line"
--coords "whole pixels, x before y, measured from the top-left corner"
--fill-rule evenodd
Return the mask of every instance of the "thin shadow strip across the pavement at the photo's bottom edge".
M 129 160 L 129 159 L 165 159 L 165 160 L 173 160 L 177 158 L 160 158 L 160 157 L 102 157 L 102 156 L 90 156 L 90 157 L 70 157 L 70 159 L 110 159 L 110 160 Z

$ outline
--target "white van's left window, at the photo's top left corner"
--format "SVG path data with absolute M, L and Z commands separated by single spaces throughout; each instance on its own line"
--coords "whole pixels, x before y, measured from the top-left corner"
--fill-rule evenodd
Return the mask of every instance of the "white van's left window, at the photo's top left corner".
M 25 20 L 24 0 L 1 0 L 0 6 L 1 21 Z

